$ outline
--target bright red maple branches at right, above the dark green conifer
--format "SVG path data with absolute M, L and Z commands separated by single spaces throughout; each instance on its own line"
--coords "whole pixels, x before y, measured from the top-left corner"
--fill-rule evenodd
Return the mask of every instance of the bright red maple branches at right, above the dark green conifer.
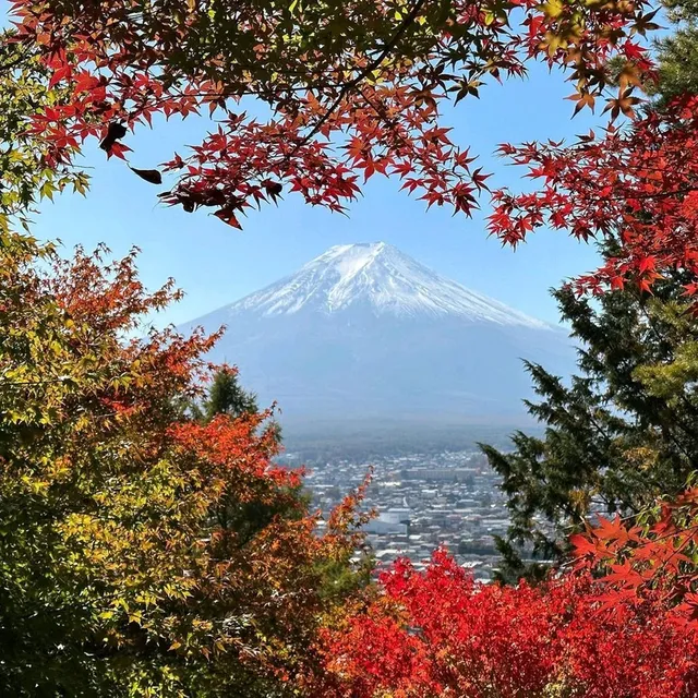
M 628 281 L 650 290 L 672 269 L 688 274 L 688 294 L 698 291 L 690 280 L 698 272 L 698 96 L 570 146 L 531 143 L 501 152 L 541 184 L 531 194 L 495 194 L 490 231 L 503 242 L 517 245 L 543 226 L 583 241 L 611 238 L 618 253 L 577 279 L 580 291 Z

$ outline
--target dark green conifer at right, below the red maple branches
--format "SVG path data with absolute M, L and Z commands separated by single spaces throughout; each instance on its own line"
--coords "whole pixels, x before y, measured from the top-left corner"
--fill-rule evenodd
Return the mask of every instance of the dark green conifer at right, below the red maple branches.
M 539 578 L 594 513 L 637 514 L 682 491 L 698 467 L 698 320 L 681 300 L 683 280 L 653 297 L 554 292 L 580 344 L 577 375 L 565 382 L 527 363 L 540 398 L 527 407 L 544 434 L 517 432 L 510 453 L 482 446 L 510 514 L 500 579 Z

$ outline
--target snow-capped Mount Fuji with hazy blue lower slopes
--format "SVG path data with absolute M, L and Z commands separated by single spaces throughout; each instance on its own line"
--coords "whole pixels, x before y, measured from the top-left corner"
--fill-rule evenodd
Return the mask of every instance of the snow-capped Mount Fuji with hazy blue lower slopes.
M 521 359 L 566 375 L 566 333 L 443 278 L 384 242 L 333 246 L 296 274 L 180 329 L 227 330 L 210 358 L 240 368 L 285 422 L 512 420 L 531 397 Z

